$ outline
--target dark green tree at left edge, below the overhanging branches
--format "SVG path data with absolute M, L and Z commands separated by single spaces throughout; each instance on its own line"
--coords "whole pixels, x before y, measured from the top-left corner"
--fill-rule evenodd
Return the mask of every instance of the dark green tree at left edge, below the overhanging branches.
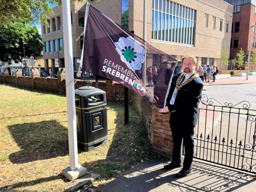
M 39 57 L 43 43 L 37 28 L 24 24 L 0 25 L 0 60 L 20 62 L 25 55 Z

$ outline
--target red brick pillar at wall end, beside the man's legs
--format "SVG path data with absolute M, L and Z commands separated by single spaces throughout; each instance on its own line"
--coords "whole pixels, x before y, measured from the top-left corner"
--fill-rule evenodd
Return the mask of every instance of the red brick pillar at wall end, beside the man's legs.
M 170 114 L 162 114 L 154 109 L 153 117 L 153 147 L 164 152 L 169 157 L 173 156 L 172 132 L 170 129 Z

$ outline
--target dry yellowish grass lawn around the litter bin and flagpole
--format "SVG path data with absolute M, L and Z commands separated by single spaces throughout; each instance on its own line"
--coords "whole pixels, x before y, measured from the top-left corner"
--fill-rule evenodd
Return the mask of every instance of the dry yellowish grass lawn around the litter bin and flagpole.
M 0 191 L 64 191 L 69 166 L 66 96 L 0 84 Z M 142 159 L 155 157 L 139 115 L 108 102 L 108 144 L 79 150 L 78 163 L 108 182 Z M 96 188 L 94 186 L 94 188 Z

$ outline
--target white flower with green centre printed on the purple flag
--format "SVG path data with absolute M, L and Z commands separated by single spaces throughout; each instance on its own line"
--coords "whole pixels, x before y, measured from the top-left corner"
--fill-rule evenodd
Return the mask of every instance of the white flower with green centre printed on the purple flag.
M 125 62 L 130 69 L 133 71 L 141 69 L 141 63 L 145 61 L 145 49 L 141 47 L 140 42 L 128 36 L 127 38 L 120 37 L 118 42 L 115 42 L 115 45 L 121 60 Z

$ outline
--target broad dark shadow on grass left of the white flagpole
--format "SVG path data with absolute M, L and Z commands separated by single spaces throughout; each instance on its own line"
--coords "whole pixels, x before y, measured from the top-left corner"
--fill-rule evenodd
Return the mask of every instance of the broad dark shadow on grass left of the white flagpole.
M 8 126 L 20 151 L 9 155 L 12 163 L 27 163 L 68 154 L 67 128 L 57 121 Z

